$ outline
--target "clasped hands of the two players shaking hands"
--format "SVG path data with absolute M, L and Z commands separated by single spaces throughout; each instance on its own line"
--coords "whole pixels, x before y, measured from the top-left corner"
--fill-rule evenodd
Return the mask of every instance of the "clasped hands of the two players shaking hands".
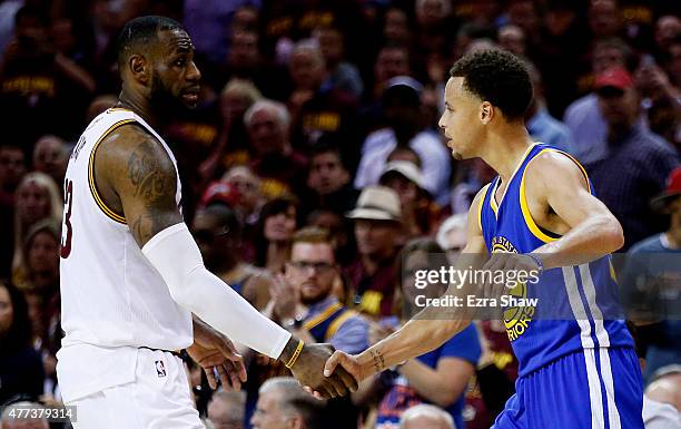
M 303 345 L 292 339 L 279 359 L 305 389 L 318 399 L 354 392 L 363 378 L 356 358 L 340 351 L 334 352 L 330 344 Z

